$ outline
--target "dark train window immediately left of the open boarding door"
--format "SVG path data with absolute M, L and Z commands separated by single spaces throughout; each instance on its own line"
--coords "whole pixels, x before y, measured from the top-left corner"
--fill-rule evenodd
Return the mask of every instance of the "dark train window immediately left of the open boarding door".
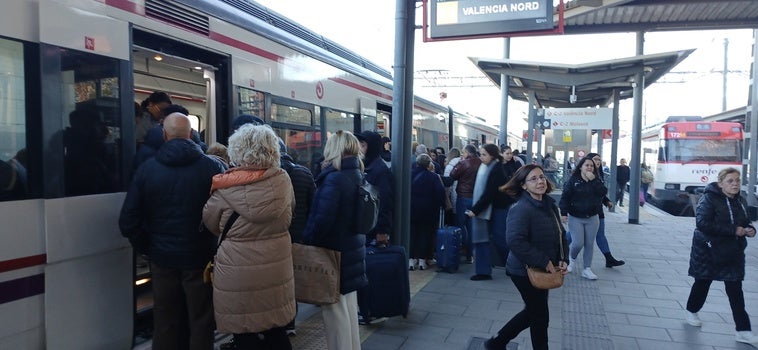
M 121 190 L 118 60 L 61 49 L 60 74 L 66 195 Z

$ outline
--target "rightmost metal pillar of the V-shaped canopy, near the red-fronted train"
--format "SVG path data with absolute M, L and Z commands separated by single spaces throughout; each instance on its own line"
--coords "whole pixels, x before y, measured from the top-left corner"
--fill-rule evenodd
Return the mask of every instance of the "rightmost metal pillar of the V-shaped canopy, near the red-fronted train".
M 637 56 L 644 53 L 645 33 L 637 32 Z M 642 92 L 645 90 L 645 72 L 634 77 L 634 113 L 632 116 L 632 159 L 634 165 L 629 177 L 629 223 L 640 223 L 640 164 L 642 163 Z

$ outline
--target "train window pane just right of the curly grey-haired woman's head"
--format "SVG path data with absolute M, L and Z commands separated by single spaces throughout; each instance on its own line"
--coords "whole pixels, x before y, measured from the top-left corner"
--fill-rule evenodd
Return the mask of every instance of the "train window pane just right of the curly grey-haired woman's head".
M 321 132 L 318 130 L 293 130 L 274 128 L 276 134 L 287 145 L 287 153 L 292 160 L 318 174 L 321 164 Z

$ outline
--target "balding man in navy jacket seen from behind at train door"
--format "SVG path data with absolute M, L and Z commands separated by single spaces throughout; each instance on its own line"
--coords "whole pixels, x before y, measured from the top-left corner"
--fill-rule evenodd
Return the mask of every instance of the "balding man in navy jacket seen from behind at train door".
M 137 169 L 119 218 L 121 234 L 150 256 L 157 350 L 213 349 L 213 291 L 203 269 L 215 237 L 198 227 L 211 179 L 223 165 L 190 140 L 191 130 L 187 116 L 166 117 L 166 143 Z

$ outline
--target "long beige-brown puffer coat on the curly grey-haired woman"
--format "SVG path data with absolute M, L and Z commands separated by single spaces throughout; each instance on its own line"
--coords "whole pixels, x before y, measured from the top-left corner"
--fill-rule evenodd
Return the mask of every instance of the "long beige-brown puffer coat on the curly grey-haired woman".
M 288 232 L 295 195 L 280 168 L 234 168 L 213 178 L 203 222 L 219 235 L 240 214 L 216 252 L 213 308 L 224 333 L 257 333 L 295 318 Z

